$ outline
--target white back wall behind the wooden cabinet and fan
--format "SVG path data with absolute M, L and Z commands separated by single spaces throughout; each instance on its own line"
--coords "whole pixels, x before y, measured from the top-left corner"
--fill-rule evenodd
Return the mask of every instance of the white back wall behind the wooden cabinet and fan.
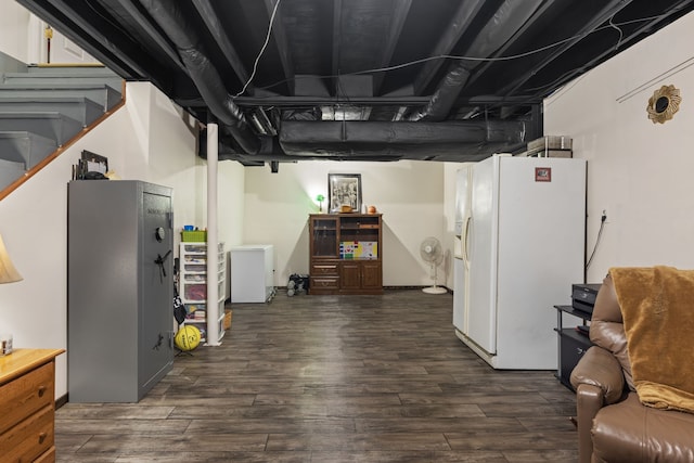
M 275 284 L 308 273 L 308 215 L 318 213 L 317 194 L 327 197 L 329 173 L 360 173 L 363 203 L 383 213 L 383 284 L 429 285 L 419 249 L 426 236 L 446 240 L 444 164 L 409 160 L 286 163 L 278 173 L 246 168 L 244 243 L 274 245 Z

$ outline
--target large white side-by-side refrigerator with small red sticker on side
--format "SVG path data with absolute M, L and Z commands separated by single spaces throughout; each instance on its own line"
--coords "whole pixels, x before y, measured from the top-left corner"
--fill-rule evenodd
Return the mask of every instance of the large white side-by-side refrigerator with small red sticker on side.
M 455 335 L 494 369 L 554 370 L 554 305 L 586 259 L 586 160 L 497 155 L 458 172 Z

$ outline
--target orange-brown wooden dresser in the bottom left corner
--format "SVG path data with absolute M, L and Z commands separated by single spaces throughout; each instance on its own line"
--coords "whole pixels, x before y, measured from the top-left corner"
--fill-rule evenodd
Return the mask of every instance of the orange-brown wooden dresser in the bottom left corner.
M 0 463 L 55 461 L 55 357 L 64 351 L 0 357 Z

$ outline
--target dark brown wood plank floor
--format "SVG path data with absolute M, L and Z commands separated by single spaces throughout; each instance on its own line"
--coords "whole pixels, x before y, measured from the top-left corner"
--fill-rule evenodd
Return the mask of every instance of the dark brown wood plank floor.
M 419 290 L 234 305 L 140 403 L 60 408 L 57 461 L 575 462 L 574 394 L 489 368 L 451 310 Z

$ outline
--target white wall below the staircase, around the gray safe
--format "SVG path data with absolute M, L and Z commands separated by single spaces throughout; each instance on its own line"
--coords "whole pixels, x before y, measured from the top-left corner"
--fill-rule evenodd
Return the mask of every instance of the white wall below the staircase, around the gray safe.
M 0 285 L 0 331 L 12 333 L 16 347 L 67 346 L 67 182 L 81 151 L 108 157 L 110 168 L 123 179 L 174 188 L 175 230 L 184 223 L 204 226 L 206 169 L 195 154 L 195 127 L 149 83 L 128 83 L 125 107 L 0 201 L 0 233 L 24 276 Z M 220 177 L 237 179 L 242 172 L 236 163 L 220 165 Z M 243 197 L 242 183 L 224 182 L 223 191 Z M 237 211 L 229 211 L 220 223 L 220 237 L 240 240 L 239 227 L 230 221 L 241 221 Z M 67 391 L 66 376 L 66 356 L 61 356 L 57 397 Z

